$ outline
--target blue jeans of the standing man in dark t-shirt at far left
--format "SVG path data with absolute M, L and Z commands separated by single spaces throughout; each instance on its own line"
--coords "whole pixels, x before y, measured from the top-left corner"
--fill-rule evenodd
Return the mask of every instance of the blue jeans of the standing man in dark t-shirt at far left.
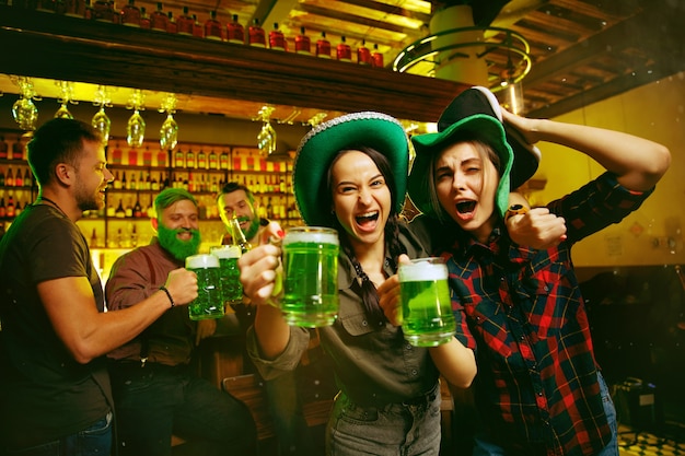
M 91 426 L 43 445 L 8 452 L 8 456 L 109 456 L 112 412 Z

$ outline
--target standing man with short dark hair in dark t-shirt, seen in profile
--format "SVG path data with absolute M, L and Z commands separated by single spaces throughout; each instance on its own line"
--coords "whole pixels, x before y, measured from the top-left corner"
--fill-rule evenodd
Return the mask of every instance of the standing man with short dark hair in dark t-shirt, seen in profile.
M 103 312 L 100 277 L 76 224 L 83 211 L 104 208 L 114 178 L 102 136 L 57 118 L 27 149 L 38 198 L 0 242 L 0 454 L 108 455 L 113 401 L 104 354 L 167 313 L 169 296 L 186 309 L 197 278 L 174 267 L 131 308 Z

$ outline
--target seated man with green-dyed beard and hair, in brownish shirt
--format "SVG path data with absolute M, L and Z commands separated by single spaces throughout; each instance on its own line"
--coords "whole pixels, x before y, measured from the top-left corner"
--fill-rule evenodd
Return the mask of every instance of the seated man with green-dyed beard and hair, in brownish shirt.
M 193 195 L 164 189 L 154 209 L 158 236 L 112 268 L 105 287 L 111 312 L 159 291 L 169 271 L 198 252 L 199 211 Z M 195 347 L 214 332 L 216 321 L 193 321 L 186 307 L 171 305 L 138 338 L 107 355 L 119 455 L 169 456 L 172 434 L 186 441 L 174 455 L 255 454 L 256 426 L 247 407 L 188 367 Z

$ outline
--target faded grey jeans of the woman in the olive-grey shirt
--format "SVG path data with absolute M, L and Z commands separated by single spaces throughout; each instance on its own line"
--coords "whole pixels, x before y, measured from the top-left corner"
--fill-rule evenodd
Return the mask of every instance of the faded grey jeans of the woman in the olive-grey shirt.
M 339 394 L 326 430 L 328 456 L 438 456 L 440 390 L 422 405 L 360 407 Z

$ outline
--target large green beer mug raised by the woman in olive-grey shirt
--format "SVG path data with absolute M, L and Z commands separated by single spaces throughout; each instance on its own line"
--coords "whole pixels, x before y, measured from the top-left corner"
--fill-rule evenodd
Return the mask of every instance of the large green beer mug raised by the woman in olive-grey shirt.
M 335 321 L 339 248 L 338 233 L 333 229 L 286 230 L 281 311 L 289 325 L 314 328 Z

